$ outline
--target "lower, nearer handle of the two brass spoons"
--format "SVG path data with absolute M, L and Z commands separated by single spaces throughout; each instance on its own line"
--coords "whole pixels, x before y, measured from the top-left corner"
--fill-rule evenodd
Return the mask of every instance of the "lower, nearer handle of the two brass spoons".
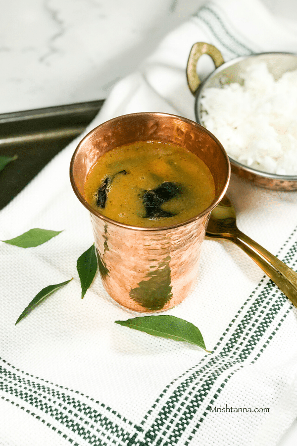
M 289 281 L 283 274 L 275 269 L 271 263 L 267 262 L 261 257 L 258 252 L 254 251 L 250 246 L 245 244 L 243 240 L 237 237 L 228 238 L 237 244 L 247 255 L 266 273 L 266 275 L 273 280 L 273 282 L 280 288 L 281 291 L 291 300 L 297 307 L 297 288 Z M 281 262 L 282 263 L 282 262 Z

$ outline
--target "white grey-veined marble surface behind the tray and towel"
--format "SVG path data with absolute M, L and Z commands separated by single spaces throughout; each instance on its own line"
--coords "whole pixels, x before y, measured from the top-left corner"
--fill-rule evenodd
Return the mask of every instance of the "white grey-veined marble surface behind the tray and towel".
M 240 0 L 239 0 L 240 1 Z M 296 0 L 263 0 L 288 21 Z M 0 2 L 0 113 L 105 98 L 203 0 Z M 278 446 L 297 445 L 297 421 Z

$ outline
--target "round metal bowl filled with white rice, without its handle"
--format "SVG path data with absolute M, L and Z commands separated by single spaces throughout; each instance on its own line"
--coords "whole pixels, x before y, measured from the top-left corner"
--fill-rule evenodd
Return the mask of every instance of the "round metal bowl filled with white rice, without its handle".
M 258 186 L 297 190 L 297 55 L 224 62 L 193 93 L 197 122 L 222 143 L 234 173 Z

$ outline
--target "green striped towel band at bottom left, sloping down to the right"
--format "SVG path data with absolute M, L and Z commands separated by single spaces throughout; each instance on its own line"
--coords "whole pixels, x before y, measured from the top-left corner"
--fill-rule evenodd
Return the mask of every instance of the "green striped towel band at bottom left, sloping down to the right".
M 134 445 L 143 428 L 127 420 L 111 407 L 94 398 L 54 385 L 16 369 L 5 360 L 0 365 L 2 399 L 30 413 L 77 446 L 78 440 L 92 445 Z M 16 401 L 21 401 L 21 404 Z

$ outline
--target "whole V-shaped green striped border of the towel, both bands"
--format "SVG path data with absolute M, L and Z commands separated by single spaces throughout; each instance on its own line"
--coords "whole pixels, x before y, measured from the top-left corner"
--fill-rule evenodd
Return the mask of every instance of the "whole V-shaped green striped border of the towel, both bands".
M 296 231 L 293 235 L 296 237 Z M 293 235 L 284 256 L 290 266 L 297 265 L 297 241 Z M 281 252 L 284 251 L 283 247 Z M 0 390 L 10 396 L 1 398 L 75 446 L 81 442 L 96 446 L 172 446 L 185 435 L 187 440 L 183 438 L 180 444 L 190 445 L 227 382 L 260 357 L 290 311 L 288 299 L 271 280 L 263 278 L 219 339 L 215 356 L 206 355 L 170 383 L 140 425 L 94 398 L 21 372 L 5 360 L 0 365 Z M 193 419 L 194 426 L 187 433 Z

